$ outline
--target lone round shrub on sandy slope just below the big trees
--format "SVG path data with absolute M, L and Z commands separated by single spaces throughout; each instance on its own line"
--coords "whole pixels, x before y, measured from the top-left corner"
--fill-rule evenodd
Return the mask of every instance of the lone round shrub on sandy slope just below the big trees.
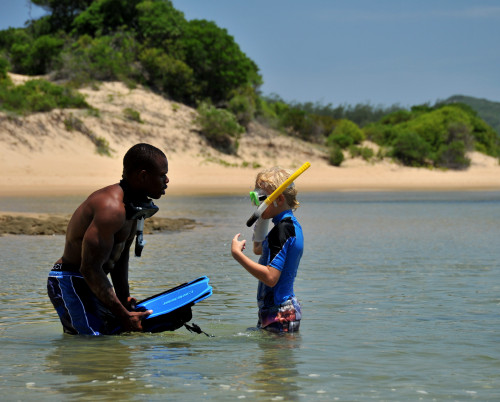
M 198 107 L 195 121 L 201 126 L 201 134 L 211 145 L 222 152 L 236 154 L 238 139 L 245 129 L 238 124 L 234 114 L 203 102 Z

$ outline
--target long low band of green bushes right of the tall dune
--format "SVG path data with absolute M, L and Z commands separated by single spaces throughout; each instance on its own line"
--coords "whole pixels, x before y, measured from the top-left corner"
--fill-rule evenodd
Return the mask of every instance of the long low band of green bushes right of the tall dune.
M 344 157 L 371 160 L 390 156 L 407 166 L 464 169 L 466 154 L 477 150 L 500 157 L 500 137 L 478 113 L 463 103 L 418 105 L 410 110 L 393 105 L 339 106 L 287 104 L 279 97 L 260 99 L 260 118 L 279 130 L 306 141 L 326 144 L 329 161 L 339 166 Z M 361 146 L 367 139 L 381 147 L 378 155 Z

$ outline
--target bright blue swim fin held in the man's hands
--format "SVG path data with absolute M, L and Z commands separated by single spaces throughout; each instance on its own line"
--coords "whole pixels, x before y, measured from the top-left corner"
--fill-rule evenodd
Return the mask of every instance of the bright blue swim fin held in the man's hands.
M 162 319 L 162 316 L 168 319 L 168 317 L 172 316 L 171 313 L 176 310 L 182 309 L 182 307 L 191 307 L 211 296 L 212 286 L 208 282 L 208 277 L 202 276 L 194 281 L 183 283 L 175 288 L 141 300 L 137 303 L 136 310 L 153 310 L 153 313 L 143 321 L 148 327 L 147 323 L 150 320 L 157 322 Z

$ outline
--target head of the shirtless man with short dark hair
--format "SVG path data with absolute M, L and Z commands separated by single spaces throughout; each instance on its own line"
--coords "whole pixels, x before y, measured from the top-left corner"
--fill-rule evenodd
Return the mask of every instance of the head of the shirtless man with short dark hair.
M 136 144 L 123 157 L 123 178 L 134 191 L 158 199 L 165 194 L 168 160 L 158 148 Z

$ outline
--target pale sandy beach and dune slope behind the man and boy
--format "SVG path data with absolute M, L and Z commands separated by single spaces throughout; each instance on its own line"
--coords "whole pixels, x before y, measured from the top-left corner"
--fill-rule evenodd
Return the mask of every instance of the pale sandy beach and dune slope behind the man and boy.
M 500 190 L 498 160 L 476 152 L 469 155 L 472 164 L 465 171 L 361 159 L 333 167 L 325 149 L 253 124 L 239 141 L 238 155 L 226 155 L 209 147 L 198 134 L 193 123 L 196 112 L 185 105 L 121 83 L 103 83 L 98 90 L 81 92 L 99 110 L 97 116 L 86 110 L 27 117 L 0 113 L 0 197 L 83 195 L 116 183 L 124 153 L 137 142 L 165 151 L 167 195 L 241 194 L 253 187 L 256 166 L 294 170 L 306 161 L 311 168 L 298 179 L 299 191 Z M 143 123 L 128 120 L 126 108 L 138 111 Z M 68 129 L 67 121 L 79 125 Z M 111 156 L 99 155 L 91 136 L 105 139 Z

